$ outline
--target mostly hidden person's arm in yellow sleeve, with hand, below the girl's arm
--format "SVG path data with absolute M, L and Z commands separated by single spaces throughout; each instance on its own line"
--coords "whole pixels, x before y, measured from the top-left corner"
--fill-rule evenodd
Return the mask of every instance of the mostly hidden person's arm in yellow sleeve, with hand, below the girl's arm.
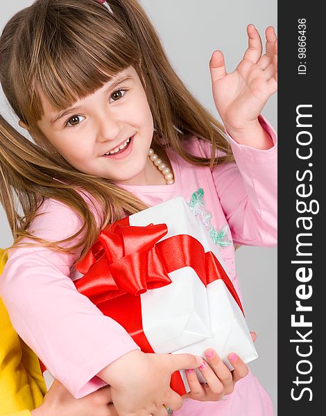
M 2 254 L 3 252 L 0 250 L 0 274 L 6 262 L 6 257 L 3 257 Z M 81 410 L 83 415 L 94 415 L 94 407 L 96 406 L 98 414 L 104 410 L 103 414 L 105 415 L 117 416 L 113 404 L 108 405 L 111 401 L 109 387 L 101 388 L 83 399 L 76 400 L 62 384 L 55 381 L 46 394 L 37 356 L 15 333 L 1 300 L 0 333 L 1 415 L 74 416 L 80 415 Z

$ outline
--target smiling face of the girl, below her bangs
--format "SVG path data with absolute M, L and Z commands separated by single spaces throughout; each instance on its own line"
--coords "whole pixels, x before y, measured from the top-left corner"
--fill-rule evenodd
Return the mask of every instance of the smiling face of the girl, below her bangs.
M 59 113 L 40 97 L 44 116 L 37 124 L 69 164 L 121 183 L 149 183 L 153 117 L 134 67 Z

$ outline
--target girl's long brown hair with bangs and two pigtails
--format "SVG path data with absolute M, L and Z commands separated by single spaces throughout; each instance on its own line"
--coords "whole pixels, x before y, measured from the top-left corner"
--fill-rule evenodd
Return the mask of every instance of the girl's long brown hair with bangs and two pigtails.
M 141 78 L 153 114 L 155 135 L 194 165 L 215 166 L 233 160 L 221 124 L 198 103 L 173 71 L 155 28 L 137 0 L 110 0 L 109 12 L 96 0 L 36 0 L 17 12 L 0 37 L 0 81 L 17 117 L 28 125 L 27 139 L 0 116 L 0 201 L 15 245 L 28 237 L 59 248 L 28 231 L 37 210 L 47 198 L 74 209 L 83 227 L 64 241 L 84 232 L 70 248 L 85 253 L 100 229 L 146 206 L 110 180 L 76 170 L 37 128 L 42 104 L 37 87 L 55 110 L 63 110 L 107 83 L 130 65 Z M 97 47 L 94 47 L 96 45 Z M 185 152 L 181 139 L 195 135 L 212 143 L 212 158 Z M 226 156 L 215 157 L 220 149 Z M 60 177 L 62 182 L 53 180 Z M 101 207 L 100 229 L 86 191 Z M 68 249 L 62 249 L 67 251 Z

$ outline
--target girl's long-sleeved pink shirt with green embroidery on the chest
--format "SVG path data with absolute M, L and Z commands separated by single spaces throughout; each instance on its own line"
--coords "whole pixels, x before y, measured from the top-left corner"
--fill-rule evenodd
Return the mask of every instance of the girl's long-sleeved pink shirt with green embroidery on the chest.
M 173 166 L 172 185 L 123 185 L 147 205 L 191 194 L 202 188 L 205 209 L 212 225 L 220 230 L 229 225 L 234 244 L 277 243 L 277 144 L 273 128 L 259 117 L 274 146 L 257 150 L 230 144 L 237 164 L 209 167 L 188 164 L 167 150 Z M 189 153 L 210 157 L 210 145 L 191 137 L 183 141 Z M 55 200 L 46 200 L 33 222 L 37 236 L 51 241 L 71 236 L 81 226 L 79 216 Z M 241 291 L 234 264 L 234 247 L 221 248 L 225 266 Z M 71 264 L 80 254 L 53 252 L 46 248 L 13 250 L 0 279 L 0 294 L 17 333 L 41 358 L 55 378 L 75 397 L 103 385 L 96 374 L 123 354 L 138 348 L 117 322 L 105 317 L 71 281 Z M 246 309 L 246 305 L 244 305 Z M 186 400 L 175 415 L 273 415 L 271 400 L 255 376 L 248 374 L 236 384 L 232 395 L 220 402 Z

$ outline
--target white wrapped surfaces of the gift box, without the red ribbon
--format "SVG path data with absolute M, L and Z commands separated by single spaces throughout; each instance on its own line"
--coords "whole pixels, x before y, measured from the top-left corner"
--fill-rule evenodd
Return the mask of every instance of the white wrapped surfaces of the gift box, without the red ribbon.
M 214 254 L 226 275 L 228 274 L 219 248 L 182 197 L 133 214 L 128 217 L 128 221 L 129 225 L 137 227 L 165 224 L 167 234 L 157 242 L 157 245 L 161 241 L 182 234 L 193 237 L 203 246 L 205 253 Z M 171 245 L 173 245 L 172 239 Z M 130 251 L 130 248 L 128 250 Z M 192 255 L 196 254 L 191 252 Z M 255 345 L 243 313 L 223 279 L 216 277 L 216 280 L 205 286 L 194 268 L 190 266 L 177 268 L 168 275 L 171 284 L 148 288 L 145 293 L 139 295 L 141 329 L 154 352 L 172 354 L 187 352 L 205 357 L 203 355 L 205 349 L 212 347 L 230 370 L 232 370 L 228 361 L 230 352 L 236 352 L 245 363 L 257 358 Z M 82 276 L 77 273 L 71 278 L 78 280 Z M 130 273 L 123 275 L 122 278 L 130 279 Z M 189 391 L 185 372 L 180 373 L 185 389 Z M 200 381 L 205 382 L 198 370 L 197 374 Z

